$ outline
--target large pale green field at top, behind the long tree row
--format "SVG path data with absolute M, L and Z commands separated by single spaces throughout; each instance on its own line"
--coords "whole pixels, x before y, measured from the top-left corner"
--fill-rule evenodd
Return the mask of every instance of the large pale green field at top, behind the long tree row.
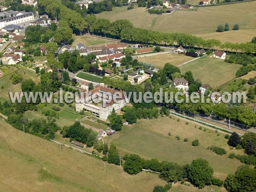
M 240 29 L 256 29 L 256 2 L 244 2 L 222 6 L 199 7 L 197 11 L 175 11 L 172 14 L 149 14 L 147 9 L 139 7 L 127 10 L 127 7 L 113 8 L 112 12 L 102 12 L 97 17 L 116 19 L 128 19 L 135 27 L 162 31 L 184 32 L 189 34 L 212 33 L 211 38 L 218 38 L 221 33 L 215 32 L 218 24 L 230 24 L 232 29 L 235 23 L 239 23 Z M 251 32 L 250 32 L 251 33 Z M 247 36 L 243 33 L 243 36 Z M 242 37 L 244 38 L 244 37 Z M 234 39 L 230 32 L 230 40 L 241 41 L 236 35 Z M 251 37 L 250 39 L 251 40 Z M 247 38 L 246 38 L 246 41 Z

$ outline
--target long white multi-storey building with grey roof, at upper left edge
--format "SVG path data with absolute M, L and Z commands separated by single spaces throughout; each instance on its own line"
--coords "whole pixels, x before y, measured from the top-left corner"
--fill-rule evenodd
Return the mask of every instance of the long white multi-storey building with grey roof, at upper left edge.
M 5 19 L 0 19 L 0 28 L 2 29 L 8 25 L 16 25 L 19 23 L 24 23 L 29 20 L 34 20 L 34 14 L 32 12 L 28 12 L 22 15 L 17 15 L 15 17 L 7 17 Z

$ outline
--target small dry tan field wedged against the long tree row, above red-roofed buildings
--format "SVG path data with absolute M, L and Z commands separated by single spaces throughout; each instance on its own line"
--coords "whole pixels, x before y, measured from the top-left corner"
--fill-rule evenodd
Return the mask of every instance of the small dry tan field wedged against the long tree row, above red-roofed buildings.
M 103 38 L 97 38 L 97 37 L 90 37 L 87 35 L 74 35 L 73 34 L 73 39 L 74 42 L 72 44 L 73 47 L 76 47 L 77 44 L 81 43 L 84 46 L 100 46 L 100 45 L 105 45 L 105 44 L 110 44 L 110 43 L 114 43 L 114 41 L 109 41 L 107 39 L 103 39 Z

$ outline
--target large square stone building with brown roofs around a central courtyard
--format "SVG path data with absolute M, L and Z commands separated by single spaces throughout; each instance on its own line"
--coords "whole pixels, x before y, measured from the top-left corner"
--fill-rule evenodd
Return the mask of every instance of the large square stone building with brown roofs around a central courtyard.
M 113 109 L 119 111 L 126 105 L 122 90 L 114 90 L 101 85 L 96 85 L 90 92 L 81 92 L 76 99 L 80 99 L 80 102 L 76 103 L 76 111 L 84 110 L 95 114 L 100 119 L 108 119 Z M 99 101 L 99 103 L 93 101 Z M 106 102 L 106 105 L 103 106 L 102 102 Z

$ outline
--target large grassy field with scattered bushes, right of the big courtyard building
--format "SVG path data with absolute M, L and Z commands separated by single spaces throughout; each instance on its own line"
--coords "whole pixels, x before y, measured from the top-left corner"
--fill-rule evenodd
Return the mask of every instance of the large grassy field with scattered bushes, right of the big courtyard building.
M 177 162 L 179 164 L 191 163 L 192 160 L 202 157 L 209 161 L 213 167 L 215 176 L 224 178 L 227 174 L 234 173 L 236 168 L 241 165 L 239 160 L 228 158 L 228 154 L 243 153 L 241 150 L 230 150 L 227 145 L 225 134 L 219 136 L 215 130 L 203 128 L 199 130 L 199 124 L 177 117 L 159 117 L 158 119 L 139 120 L 136 125 L 124 126 L 122 131 L 107 137 L 105 142 L 113 142 L 122 152 L 140 154 L 145 158 L 156 157 L 159 160 Z M 188 125 L 185 123 L 189 122 Z M 196 127 L 195 127 L 196 125 Z M 206 128 L 206 131 L 204 131 Z M 171 134 L 171 136 L 168 135 Z M 179 135 L 180 140 L 175 137 Z M 184 142 L 188 138 L 188 142 Z M 192 141 L 198 139 L 199 146 L 192 146 Z M 227 154 L 217 155 L 213 151 L 207 150 L 208 146 L 215 145 L 225 148 Z

